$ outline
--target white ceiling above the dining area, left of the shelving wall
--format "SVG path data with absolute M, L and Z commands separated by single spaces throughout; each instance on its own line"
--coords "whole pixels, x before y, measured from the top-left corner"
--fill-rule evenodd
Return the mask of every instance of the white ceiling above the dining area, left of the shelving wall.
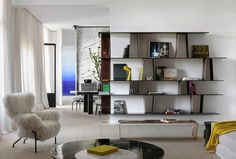
M 12 0 L 24 7 L 51 30 L 78 26 L 109 26 L 107 0 Z

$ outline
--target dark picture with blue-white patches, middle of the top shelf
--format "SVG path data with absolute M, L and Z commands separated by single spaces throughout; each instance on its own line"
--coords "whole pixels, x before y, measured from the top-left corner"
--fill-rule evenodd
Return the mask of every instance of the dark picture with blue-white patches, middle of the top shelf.
M 149 42 L 149 57 L 168 58 L 170 53 L 170 42 Z

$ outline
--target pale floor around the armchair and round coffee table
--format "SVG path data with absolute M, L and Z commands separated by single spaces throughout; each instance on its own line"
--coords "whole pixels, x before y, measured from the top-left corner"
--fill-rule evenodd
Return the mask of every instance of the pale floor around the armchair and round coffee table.
M 98 117 L 70 109 L 57 108 L 60 112 L 61 130 L 57 142 L 96 139 L 100 137 L 100 124 L 109 121 L 109 116 Z M 38 142 L 38 153 L 34 153 L 34 141 L 26 144 L 19 142 L 15 148 L 12 143 L 17 139 L 15 132 L 3 135 L 0 140 L 0 159 L 50 159 L 49 150 L 54 146 L 54 139 Z M 164 159 L 219 159 L 215 154 L 204 151 L 204 140 L 193 139 L 139 139 L 162 147 Z

